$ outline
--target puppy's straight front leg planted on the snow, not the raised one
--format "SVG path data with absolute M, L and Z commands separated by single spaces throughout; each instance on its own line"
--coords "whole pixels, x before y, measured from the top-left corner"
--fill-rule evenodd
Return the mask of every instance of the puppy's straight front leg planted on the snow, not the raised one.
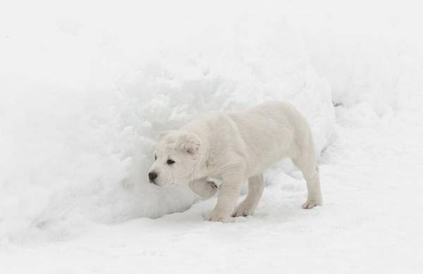
M 235 208 L 236 201 L 240 195 L 243 181 L 244 179 L 240 176 L 223 177 L 223 184 L 219 187 L 217 204 L 208 220 L 215 222 L 227 222 L 230 220 L 233 208 Z

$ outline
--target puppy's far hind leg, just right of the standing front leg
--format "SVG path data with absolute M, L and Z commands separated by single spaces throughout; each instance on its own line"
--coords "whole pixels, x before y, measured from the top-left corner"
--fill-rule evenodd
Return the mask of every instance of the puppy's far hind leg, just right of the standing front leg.
M 255 175 L 248 179 L 248 194 L 233 213 L 233 217 L 249 216 L 254 213 L 259 204 L 264 189 L 263 174 Z

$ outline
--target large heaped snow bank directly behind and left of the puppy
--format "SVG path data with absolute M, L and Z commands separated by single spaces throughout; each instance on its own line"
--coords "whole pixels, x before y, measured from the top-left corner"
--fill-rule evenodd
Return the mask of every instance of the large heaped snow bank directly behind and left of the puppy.
M 333 139 L 329 82 L 281 11 L 223 1 L 19 5 L 0 22 L 4 242 L 185 210 L 190 190 L 154 187 L 146 171 L 159 131 L 209 111 L 288 100 L 309 119 L 317 152 Z

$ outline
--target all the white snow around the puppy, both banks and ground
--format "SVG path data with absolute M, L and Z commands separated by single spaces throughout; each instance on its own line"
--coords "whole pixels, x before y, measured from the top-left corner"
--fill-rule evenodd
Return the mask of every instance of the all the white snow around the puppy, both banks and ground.
M 418 11 L 6 4 L 1 273 L 421 272 Z M 203 220 L 215 198 L 147 182 L 161 130 L 276 99 L 312 126 L 324 206 L 300 208 L 305 182 L 289 161 L 266 172 L 255 215 L 233 223 Z

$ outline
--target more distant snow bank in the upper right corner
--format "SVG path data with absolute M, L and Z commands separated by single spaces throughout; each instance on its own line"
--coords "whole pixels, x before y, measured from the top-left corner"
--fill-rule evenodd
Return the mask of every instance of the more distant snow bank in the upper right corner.
M 333 101 L 369 104 L 378 116 L 419 112 L 423 19 L 417 2 L 302 4 L 290 7 L 288 20 L 305 37 L 309 61 L 329 81 Z

